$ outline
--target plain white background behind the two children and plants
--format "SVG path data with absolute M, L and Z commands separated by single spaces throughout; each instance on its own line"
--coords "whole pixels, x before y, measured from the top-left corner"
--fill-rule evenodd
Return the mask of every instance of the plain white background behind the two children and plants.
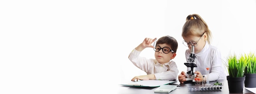
M 146 37 L 175 37 L 173 60 L 185 71 L 181 31 L 193 13 L 207 22 L 222 58 L 255 51 L 255 0 L 0 1 L 0 93 L 114 93 L 109 88 L 146 74 L 128 60 Z

